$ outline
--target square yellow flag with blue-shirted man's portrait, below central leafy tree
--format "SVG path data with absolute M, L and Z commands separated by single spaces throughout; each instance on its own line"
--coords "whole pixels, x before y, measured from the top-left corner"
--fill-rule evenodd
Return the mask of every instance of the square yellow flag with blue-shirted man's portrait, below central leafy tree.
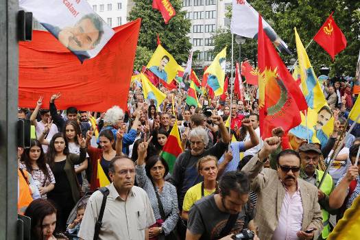
M 160 44 L 147 64 L 147 69 L 167 83 L 170 83 L 178 73 L 178 63 Z

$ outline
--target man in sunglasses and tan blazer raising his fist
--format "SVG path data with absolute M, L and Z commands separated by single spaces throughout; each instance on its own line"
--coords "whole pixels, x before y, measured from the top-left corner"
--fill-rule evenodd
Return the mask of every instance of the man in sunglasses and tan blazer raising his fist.
M 243 168 L 258 195 L 254 220 L 259 238 L 317 239 L 323 226 L 317 188 L 299 178 L 298 152 L 285 149 L 276 156 L 276 170 L 263 168 L 280 142 L 278 136 L 265 139 L 263 148 Z

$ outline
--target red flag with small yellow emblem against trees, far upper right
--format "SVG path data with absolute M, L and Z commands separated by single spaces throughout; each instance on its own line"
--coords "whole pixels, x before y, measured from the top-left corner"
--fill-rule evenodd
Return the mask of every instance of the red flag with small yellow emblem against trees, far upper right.
M 335 58 L 335 55 L 346 48 L 346 38 L 341 32 L 341 29 L 337 27 L 333 13 L 328 16 L 324 25 L 320 27 L 319 32 L 314 36 L 314 40 L 322 48 L 328 52 L 331 58 Z

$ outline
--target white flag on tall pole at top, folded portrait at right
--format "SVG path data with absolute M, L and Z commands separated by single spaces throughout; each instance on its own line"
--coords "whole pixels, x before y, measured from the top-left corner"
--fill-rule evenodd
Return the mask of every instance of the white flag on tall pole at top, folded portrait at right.
M 246 0 L 232 0 L 231 32 L 246 38 L 257 38 L 259 13 Z M 287 44 L 278 37 L 274 29 L 263 19 L 263 28 L 278 51 L 291 54 Z

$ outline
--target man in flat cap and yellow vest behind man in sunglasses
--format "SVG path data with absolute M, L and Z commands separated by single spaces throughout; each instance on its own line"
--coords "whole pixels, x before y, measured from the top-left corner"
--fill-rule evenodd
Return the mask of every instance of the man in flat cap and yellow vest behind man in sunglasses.
M 299 147 L 299 154 L 301 158 L 300 165 L 300 178 L 303 180 L 314 184 L 316 187 L 319 186 L 322 176 L 324 176 L 324 171 L 317 169 L 319 164 L 320 154 L 322 154 L 319 145 L 314 143 L 304 143 Z M 322 234 L 318 239 L 326 239 L 330 233 L 330 224 L 329 224 L 329 212 L 334 214 L 335 211 L 330 208 L 328 204 L 328 196 L 334 189 L 333 178 L 327 173 L 324 183 L 318 189 L 317 196 L 319 198 L 319 204 L 322 209 L 322 222 L 324 229 Z

